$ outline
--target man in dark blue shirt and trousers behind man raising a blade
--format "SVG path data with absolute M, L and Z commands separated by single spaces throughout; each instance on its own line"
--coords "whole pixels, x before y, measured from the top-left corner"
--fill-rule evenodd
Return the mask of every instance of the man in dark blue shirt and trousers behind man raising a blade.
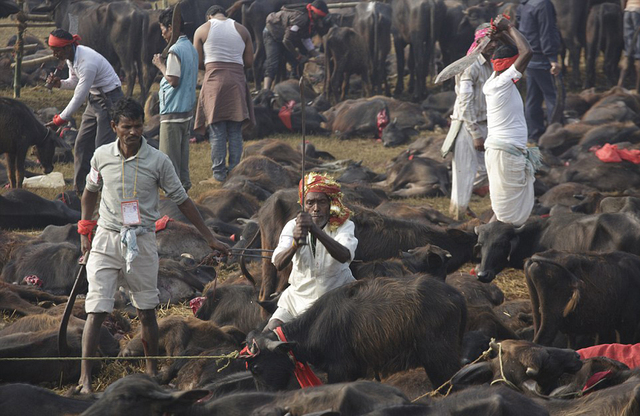
M 551 120 L 556 106 L 555 76 L 560 74 L 558 52 L 560 32 L 556 24 L 556 9 L 551 0 L 523 0 L 518 7 L 518 30 L 531 45 L 533 57 L 526 69 L 527 97 L 525 117 L 528 141 L 537 143 L 545 131 L 542 101 Z

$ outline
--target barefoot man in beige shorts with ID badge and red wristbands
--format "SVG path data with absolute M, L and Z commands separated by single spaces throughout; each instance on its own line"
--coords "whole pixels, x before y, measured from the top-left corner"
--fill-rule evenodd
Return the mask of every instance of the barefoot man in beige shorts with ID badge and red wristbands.
M 195 225 L 212 250 L 227 254 L 229 247 L 206 227 L 187 196 L 169 157 L 149 146 L 142 137 L 144 110 L 132 99 L 119 101 L 111 128 L 117 139 L 98 148 L 91 159 L 91 171 L 82 195 L 82 219 L 78 222 L 82 253 L 91 251 L 87 262 L 89 291 L 85 301 L 87 322 L 82 335 L 82 356 L 96 355 L 100 326 L 113 310 L 118 275 L 129 287 L 133 306 L 142 325 L 146 355 L 158 354 L 158 250 L 155 221 L 158 188 L 175 202 Z M 100 218 L 91 221 L 98 192 Z M 95 236 L 91 238 L 93 229 Z M 147 360 L 147 374 L 157 373 L 155 360 Z M 81 365 L 78 392 L 91 392 L 91 362 Z

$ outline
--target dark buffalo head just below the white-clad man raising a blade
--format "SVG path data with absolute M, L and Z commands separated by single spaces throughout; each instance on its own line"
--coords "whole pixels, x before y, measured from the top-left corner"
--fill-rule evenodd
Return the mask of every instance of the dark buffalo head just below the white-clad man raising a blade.
M 520 230 L 500 221 L 475 228 L 478 242 L 474 247 L 474 257 L 480 258 L 480 265 L 476 267 L 478 280 L 489 283 L 509 266 L 511 255 L 520 242 Z

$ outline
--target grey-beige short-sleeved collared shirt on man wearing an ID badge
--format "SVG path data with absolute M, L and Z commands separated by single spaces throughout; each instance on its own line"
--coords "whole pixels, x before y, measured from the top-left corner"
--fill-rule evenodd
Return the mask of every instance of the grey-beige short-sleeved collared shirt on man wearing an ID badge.
M 142 138 L 138 153 L 128 159 L 120 153 L 119 141 L 96 149 L 87 175 L 86 189 L 91 192 L 102 190 L 98 226 L 119 232 L 124 225 L 121 203 L 137 200 L 140 226 L 154 230 L 155 222 L 160 218 L 158 187 L 178 205 L 187 200 L 187 193 L 169 157 L 149 146 L 145 138 Z

